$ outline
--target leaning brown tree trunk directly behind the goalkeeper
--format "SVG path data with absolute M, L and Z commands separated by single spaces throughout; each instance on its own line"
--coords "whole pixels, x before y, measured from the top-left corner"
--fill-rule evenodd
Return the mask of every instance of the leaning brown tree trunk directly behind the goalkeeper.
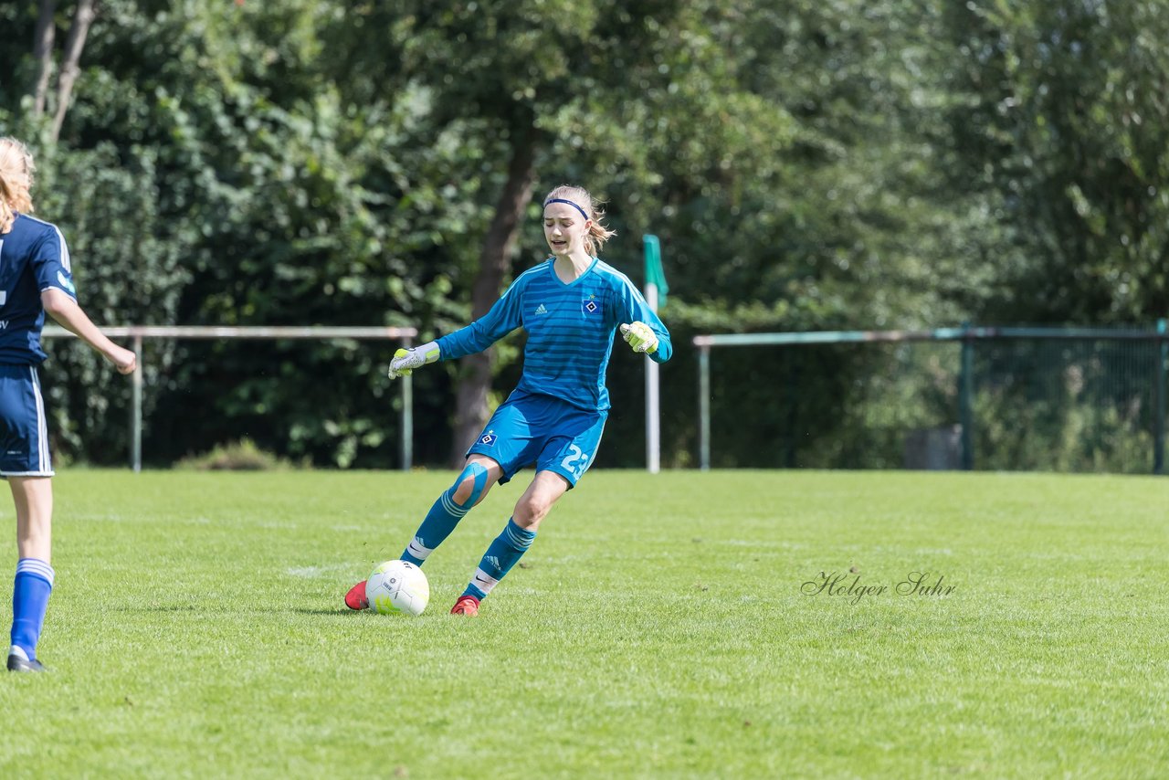
M 535 179 L 535 127 L 530 122 L 513 132 L 514 146 L 507 166 L 507 182 L 496 205 L 496 215 L 479 254 L 479 272 L 471 292 L 471 318 L 487 313 L 499 298 L 504 276 L 511 267 L 512 251 L 519 234 L 524 207 L 532 200 Z M 450 453 L 451 468 L 461 468 L 475 437 L 490 416 L 487 392 L 491 389 L 491 368 L 494 348 L 470 354 L 462 360 L 455 400 L 455 440 Z

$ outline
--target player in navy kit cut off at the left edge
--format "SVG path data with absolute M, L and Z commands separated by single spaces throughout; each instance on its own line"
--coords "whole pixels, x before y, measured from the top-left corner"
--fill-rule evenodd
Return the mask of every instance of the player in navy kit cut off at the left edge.
M 69 248 L 54 225 L 29 216 L 33 157 L 0 138 L 0 476 L 16 504 L 16 582 L 9 671 L 43 671 L 36 641 L 53 589 L 49 550 L 53 464 L 36 367 L 44 312 L 129 374 L 137 358 L 113 344 L 77 305 Z

